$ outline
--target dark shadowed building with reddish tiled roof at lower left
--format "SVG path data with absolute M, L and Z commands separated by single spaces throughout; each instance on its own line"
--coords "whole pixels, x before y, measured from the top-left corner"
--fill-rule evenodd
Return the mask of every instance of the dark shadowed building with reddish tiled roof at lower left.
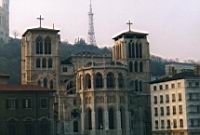
M 1 135 L 54 135 L 53 104 L 52 90 L 1 84 Z

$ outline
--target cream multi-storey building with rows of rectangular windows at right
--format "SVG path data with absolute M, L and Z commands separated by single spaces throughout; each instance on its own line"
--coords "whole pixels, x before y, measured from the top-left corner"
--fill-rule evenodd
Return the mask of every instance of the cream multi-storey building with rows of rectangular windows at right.
M 200 77 L 177 75 L 151 84 L 153 135 L 200 134 Z

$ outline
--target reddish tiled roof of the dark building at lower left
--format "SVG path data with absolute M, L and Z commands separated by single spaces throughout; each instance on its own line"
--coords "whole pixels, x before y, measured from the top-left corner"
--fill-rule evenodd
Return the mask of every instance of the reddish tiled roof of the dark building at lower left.
M 53 91 L 53 90 L 34 85 L 1 84 L 0 91 Z

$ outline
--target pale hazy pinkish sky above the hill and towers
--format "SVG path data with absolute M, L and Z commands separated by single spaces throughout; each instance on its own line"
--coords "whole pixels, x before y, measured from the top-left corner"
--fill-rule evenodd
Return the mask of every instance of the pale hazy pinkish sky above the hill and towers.
M 128 29 L 149 32 L 151 53 L 166 58 L 200 60 L 200 0 L 93 0 L 99 47 L 113 45 L 112 36 Z M 10 34 L 30 27 L 61 30 L 62 40 L 87 39 L 89 0 L 10 0 Z

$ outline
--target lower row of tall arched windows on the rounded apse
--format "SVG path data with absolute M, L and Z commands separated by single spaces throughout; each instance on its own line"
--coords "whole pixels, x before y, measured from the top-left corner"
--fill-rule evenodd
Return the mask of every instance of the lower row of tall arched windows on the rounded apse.
M 93 112 L 95 112 L 95 115 L 92 114 Z M 126 109 L 123 106 L 119 109 L 112 106 L 108 107 L 108 109 L 97 107 L 95 110 L 88 107 L 85 112 L 84 120 L 85 130 L 126 130 L 127 126 Z M 95 121 L 95 123 L 93 123 L 93 121 Z

